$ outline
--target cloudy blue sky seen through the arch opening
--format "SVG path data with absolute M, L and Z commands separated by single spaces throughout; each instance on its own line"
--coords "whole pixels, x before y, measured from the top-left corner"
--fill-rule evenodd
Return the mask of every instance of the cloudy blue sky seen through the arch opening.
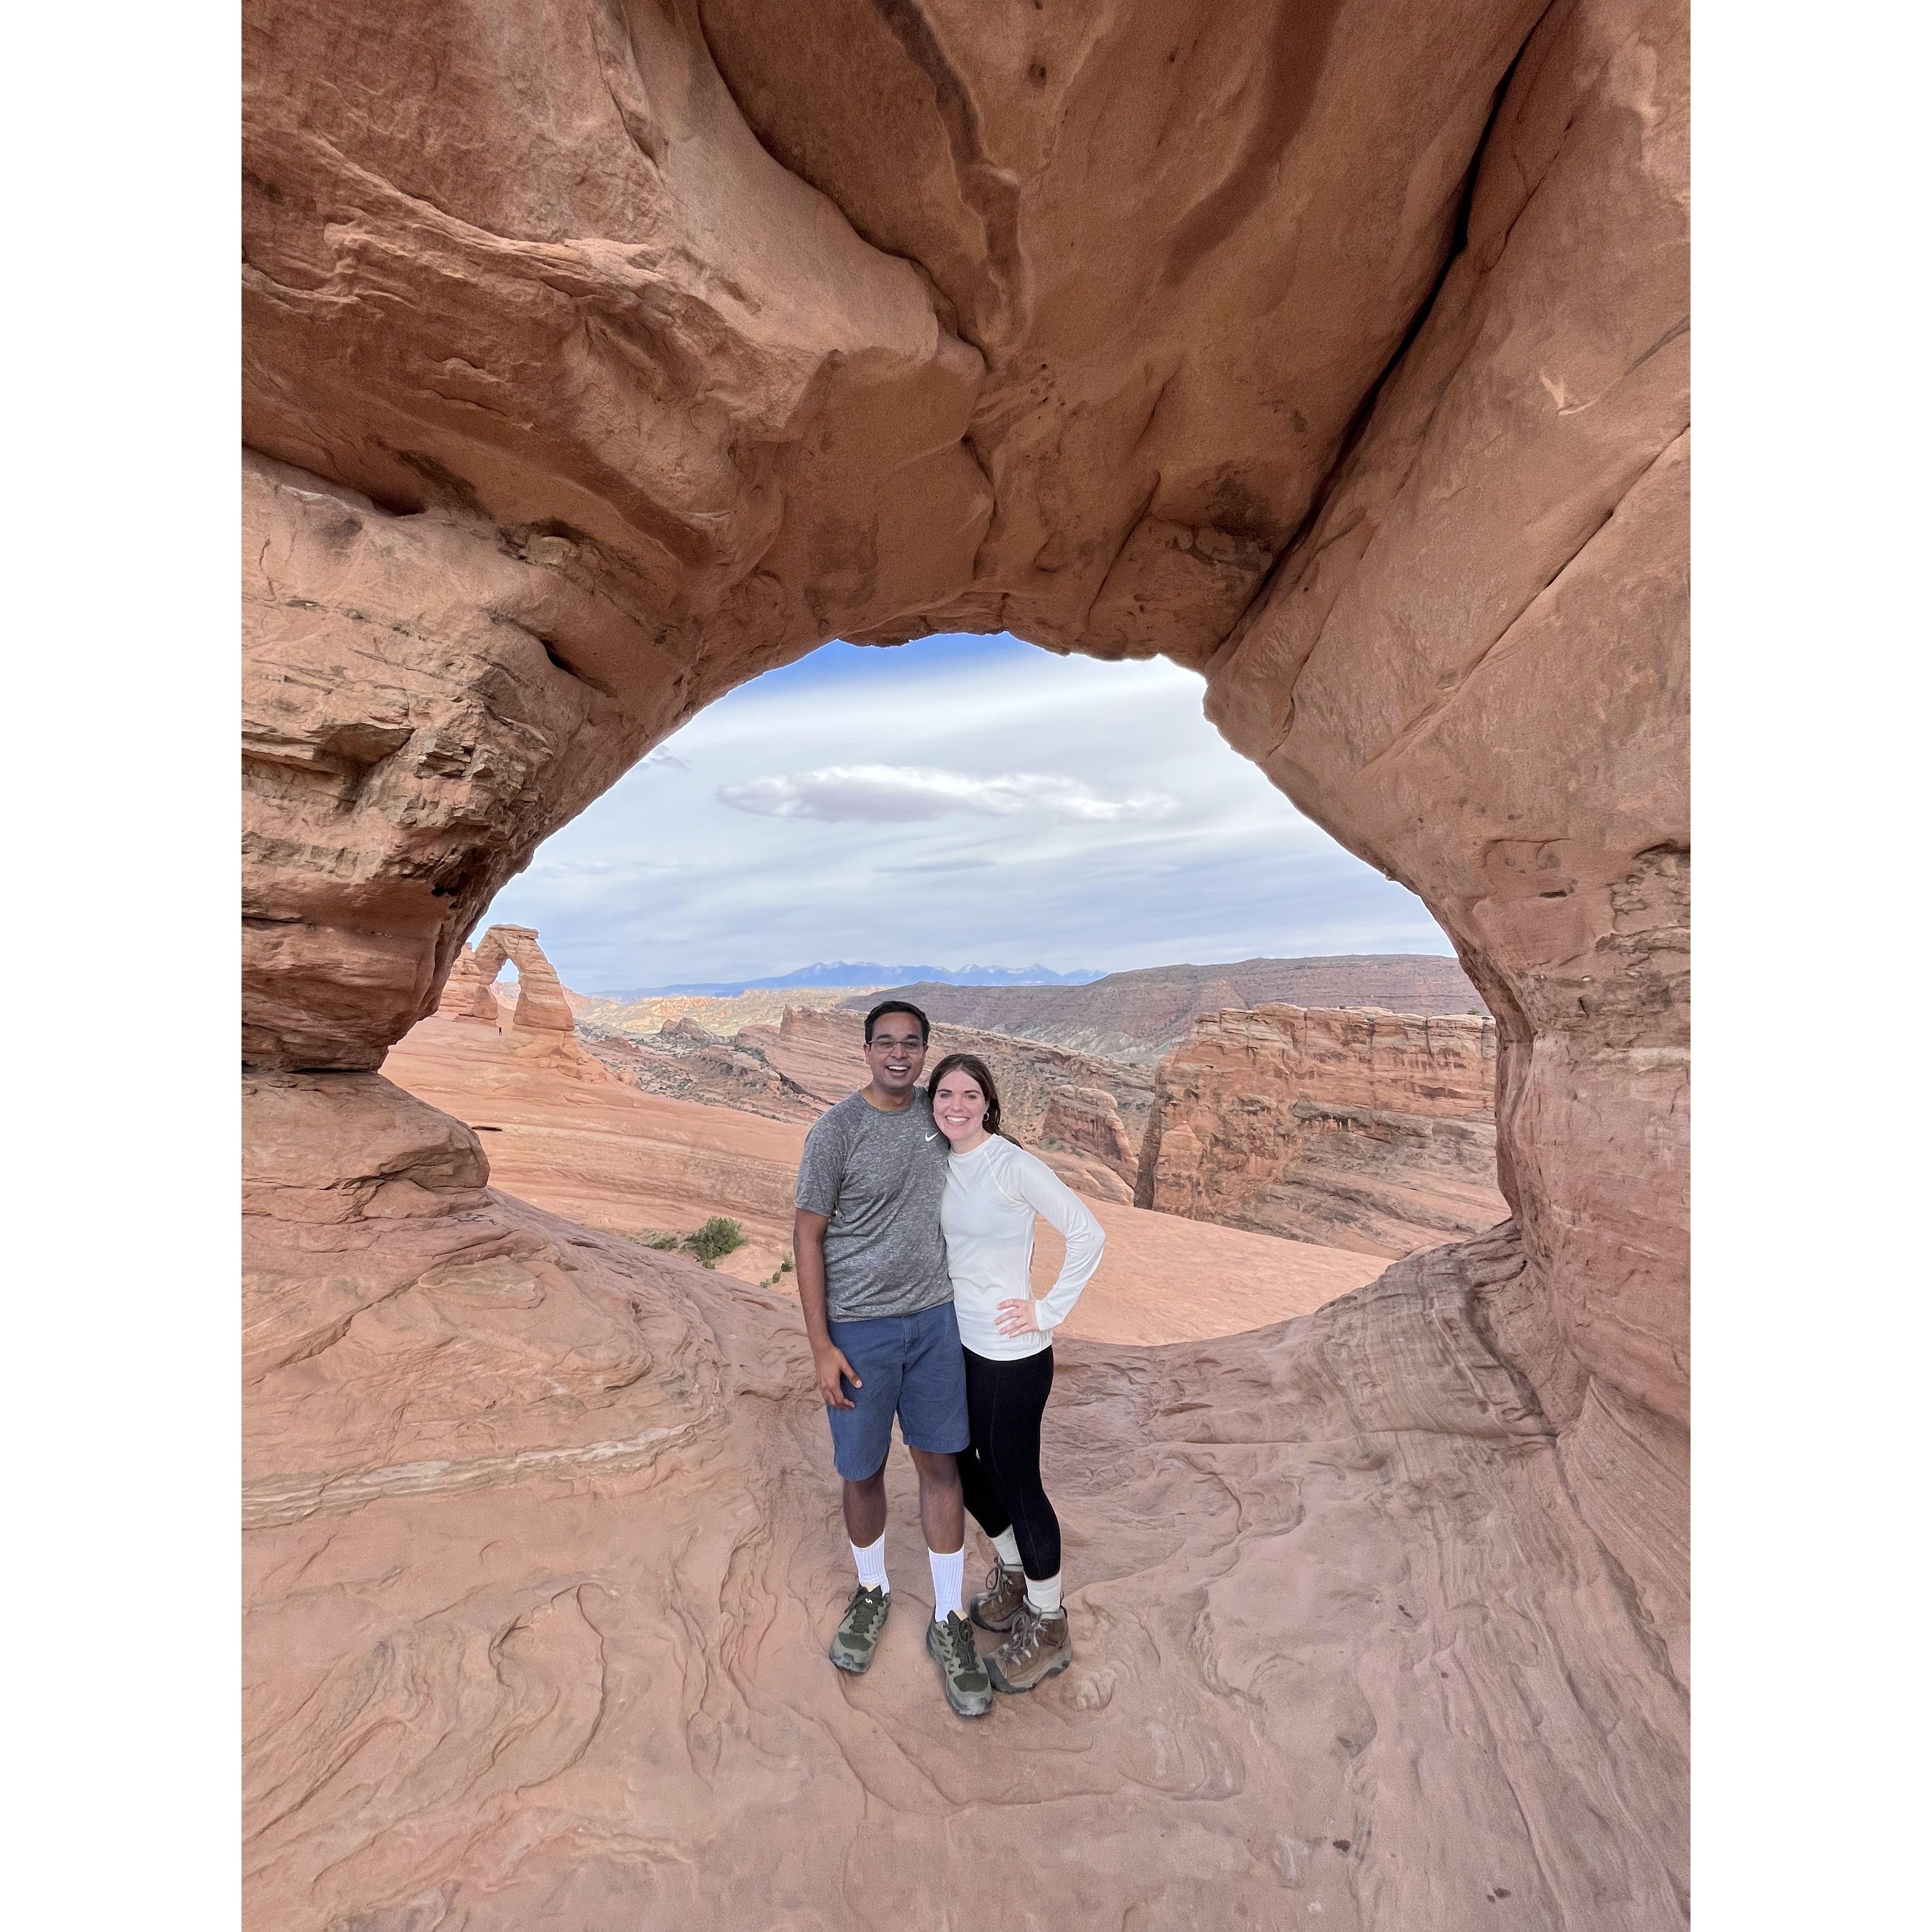
M 813 960 L 1119 972 L 1449 952 L 1202 717 L 1202 678 L 1014 638 L 829 643 L 721 697 L 512 879 L 585 993 Z

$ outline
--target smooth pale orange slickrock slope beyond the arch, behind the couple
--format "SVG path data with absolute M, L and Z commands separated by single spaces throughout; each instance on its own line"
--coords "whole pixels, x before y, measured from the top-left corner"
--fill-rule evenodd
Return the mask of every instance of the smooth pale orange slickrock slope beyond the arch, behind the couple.
M 792 1244 L 802 1124 L 639 1094 L 585 1057 L 572 1072 L 514 1034 L 423 1020 L 390 1049 L 386 1078 L 483 1132 L 491 1184 L 599 1233 L 684 1233 L 730 1215 L 746 1244 L 719 1264 L 769 1281 Z M 1063 1333 L 1109 1343 L 1206 1341 L 1310 1314 L 1374 1281 L 1387 1262 L 1088 1202 L 1107 1256 Z M 1034 1287 L 1045 1293 L 1063 1242 L 1045 1223 Z M 792 1277 L 781 1277 L 790 1289 Z

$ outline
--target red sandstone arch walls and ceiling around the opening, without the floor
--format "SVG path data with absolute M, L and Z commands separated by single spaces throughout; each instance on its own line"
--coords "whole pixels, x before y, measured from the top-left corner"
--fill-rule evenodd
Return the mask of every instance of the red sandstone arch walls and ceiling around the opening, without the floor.
M 1561 1497 L 1679 1764 L 1685 8 L 249 15 L 267 1271 L 307 1279 L 278 1225 L 425 1262 L 508 1211 L 375 1068 L 498 887 L 701 705 L 837 636 L 1171 655 L 1497 1018 L 1520 1265 L 1397 1269 L 1383 1300 L 1463 1285 L 1517 1418 L 1478 1463 L 1542 1445 L 1553 1488 L 1511 1507 Z M 1428 1412 L 1395 1389 L 1420 1358 L 1376 1374 Z M 1677 1774 L 1629 1776 L 1588 1801 L 1609 1837 L 1681 1837 Z M 1561 1922 L 1677 1922 L 1663 1864 L 1594 1920 L 1549 1880 Z

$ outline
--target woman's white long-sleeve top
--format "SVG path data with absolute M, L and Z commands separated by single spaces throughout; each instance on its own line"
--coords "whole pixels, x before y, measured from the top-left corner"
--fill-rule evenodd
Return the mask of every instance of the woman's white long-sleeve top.
M 1001 1335 L 999 1304 L 1032 1294 L 1034 1215 L 1045 1215 L 1066 1236 L 1066 1262 L 1053 1293 L 1034 1304 L 1037 1331 Z M 939 1225 L 947 1236 L 960 1341 L 997 1362 L 1037 1354 L 1053 1341 L 1053 1329 L 1080 1300 L 1107 1246 L 1107 1231 L 1080 1196 L 1037 1153 L 999 1134 L 947 1161 Z

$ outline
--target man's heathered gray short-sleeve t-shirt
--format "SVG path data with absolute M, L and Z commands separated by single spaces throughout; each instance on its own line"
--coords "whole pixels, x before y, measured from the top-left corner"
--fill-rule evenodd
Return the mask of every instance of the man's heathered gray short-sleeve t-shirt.
M 952 1150 L 923 1094 L 883 1113 L 848 1094 L 806 1134 L 798 1206 L 825 1229 L 825 1314 L 833 1321 L 916 1316 L 952 1300 L 939 1204 Z

